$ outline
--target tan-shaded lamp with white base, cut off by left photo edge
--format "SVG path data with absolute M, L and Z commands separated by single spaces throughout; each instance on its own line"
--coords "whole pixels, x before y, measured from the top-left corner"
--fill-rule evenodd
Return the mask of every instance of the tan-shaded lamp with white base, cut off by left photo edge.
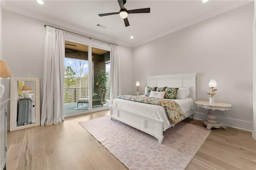
M 6 61 L 0 60 L 0 78 L 13 78 L 12 72 L 10 71 L 9 66 Z M 0 84 L 0 98 L 2 98 L 4 94 L 4 85 Z

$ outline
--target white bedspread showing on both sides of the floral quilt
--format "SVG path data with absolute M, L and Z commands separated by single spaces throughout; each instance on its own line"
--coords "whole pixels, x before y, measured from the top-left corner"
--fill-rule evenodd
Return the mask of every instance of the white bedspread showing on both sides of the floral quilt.
M 172 99 L 166 99 L 166 100 L 172 100 Z M 194 102 L 191 98 L 176 99 L 173 101 L 179 104 L 180 108 L 184 113 L 186 111 L 189 111 L 190 109 L 194 109 Z M 121 109 L 125 109 L 125 110 L 139 113 L 142 115 L 147 115 L 150 117 L 164 120 L 164 123 L 163 123 L 164 131 L 170 127 L 170 121 L 167 116 L 166 110 L 162 106 L 145 104 L 140 102 L 133 102 L 130 100 L 124 100 L 120 98 L 115 98 L 112 102 L 112 105 L 115 107 L 119 107 Z

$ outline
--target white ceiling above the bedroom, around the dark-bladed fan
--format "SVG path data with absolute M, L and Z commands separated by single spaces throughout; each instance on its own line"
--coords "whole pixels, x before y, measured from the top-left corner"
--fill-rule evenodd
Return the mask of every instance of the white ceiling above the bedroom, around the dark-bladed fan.
M 119 15 L 99 17 L 98 14 L 119 12 L 117 0 L 1 0 L 6 10 L 31 16 L 55 25 L 74 29 L 95 38 L 129 47 L 182 29 L 223 12 L 238 8 L 252 0 L 127 0 L 127 10 L 150 8 L 147 14 L 129 14 L 125 27 Z M 106 29 L 96 26 L 98 23 Z M 133 35 L 134 39 L 130 39 Z

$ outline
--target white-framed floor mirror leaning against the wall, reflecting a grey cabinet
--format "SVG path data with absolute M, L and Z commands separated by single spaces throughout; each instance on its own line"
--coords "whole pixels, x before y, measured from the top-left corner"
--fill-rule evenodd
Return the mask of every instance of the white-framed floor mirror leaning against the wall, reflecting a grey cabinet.
M 39 78 L 11 79 L 10 131 L 39 125 Z

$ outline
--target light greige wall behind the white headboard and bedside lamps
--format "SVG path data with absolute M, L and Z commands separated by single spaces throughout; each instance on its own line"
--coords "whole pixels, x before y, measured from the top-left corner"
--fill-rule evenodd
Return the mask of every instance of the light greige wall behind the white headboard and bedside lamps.
M 197 100 L 209 100 L 208 83 L 216 79 L 215 101 L 233 105 L 231 111 L 216 111 L 218 121 L 251 131 L 253 14 L 250 3 L 135 47 L 134 82 L 144 88 L 148 75 L 197 72 Z

